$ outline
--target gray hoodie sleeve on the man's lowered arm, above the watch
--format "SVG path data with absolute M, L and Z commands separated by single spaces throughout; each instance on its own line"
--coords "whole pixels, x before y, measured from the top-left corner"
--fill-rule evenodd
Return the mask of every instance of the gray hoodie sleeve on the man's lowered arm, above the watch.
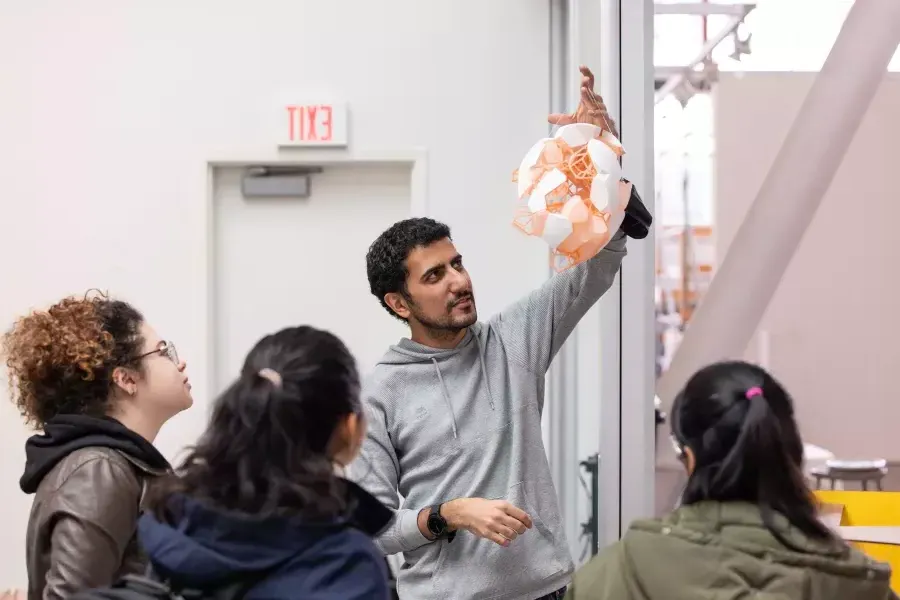
M 391 442 L 383 407 L 369 398 L 366 439 L 349 476 L 364 490 L 394 511 L 394 518 L 375 544 L 386 555 L 409 552 L 431 540 L 419 531 L 419 510 L 400 508 L 400 462 Z

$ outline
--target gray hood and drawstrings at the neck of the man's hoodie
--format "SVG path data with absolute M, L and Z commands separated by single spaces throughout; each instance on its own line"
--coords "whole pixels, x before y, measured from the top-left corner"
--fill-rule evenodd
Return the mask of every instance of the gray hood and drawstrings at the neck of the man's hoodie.
M 403 338 L 398 344 L 388 348 L 388 351 L 381 357 L 381 360 L 378 361 L 379 365 L 410 365 L 427 362 L 432 364 L 437 383 L 441 389 L 441 396 L 444 398 L 447 409 L 450 411 L 454 438 L 459 438 L 457 414 L 456 409 L 453 407 L 453 400 L 450 397 L 450 390 L 447 389 L 447 384 L 444 383 L 444 373 L 441 371 L 442 363 L 448 363 L 444 368 L 452 369 L 454 366 L 449 364 L 451 361 L 458 360 L 460 356 L 474 351 L 478 356 L 478 366 L 481 369 L 481 376 L 488 392 L 488 402 L 491 406 L 491 410 L 496 410 L 497 407 L 494 393 L 491 391 L 491 382 L 488 377 L 487 365 L 484 362 L 484 345 L 479 339 L 481 332 L 482 325 L 480 323 L 469 326 L 459 344 L 457 344 L 455 348 L 449 349 L 431 348 L 430 346 L 414 342 L 409 338 Z

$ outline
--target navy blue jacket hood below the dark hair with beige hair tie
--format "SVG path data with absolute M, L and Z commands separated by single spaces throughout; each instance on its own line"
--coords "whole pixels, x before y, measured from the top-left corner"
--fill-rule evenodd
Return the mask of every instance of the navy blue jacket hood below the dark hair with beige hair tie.
M 373 537 L 393 518 L 390 509 L 362 488 L 346 484 L 350 510 L 331 522 L 256 518 L 176 496 L 172 502 L 179 507 L 178 522 L 145 514 L 138 522 L 138 536 L 153 567 L 183 586 L 212 585 L 287 562 L 292 570 L 312 571 L 326 558 L 356 550 L 358 538 L 342 535 L 348 529 Z M 303 591 L 296 590 L 296 596 L 302 597 Z

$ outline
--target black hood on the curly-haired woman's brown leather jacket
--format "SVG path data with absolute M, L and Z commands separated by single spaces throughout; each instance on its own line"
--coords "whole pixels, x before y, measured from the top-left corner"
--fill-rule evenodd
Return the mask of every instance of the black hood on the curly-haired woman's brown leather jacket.
M 56 463 L 81 448 L 118 450 L 152 469 L 169 469 L 169 462 L 153 444 L 115 419 L 57 415 L 44 424 L 44 433 L 25 442 L 25 472 L 19 487 L 33 494 Z

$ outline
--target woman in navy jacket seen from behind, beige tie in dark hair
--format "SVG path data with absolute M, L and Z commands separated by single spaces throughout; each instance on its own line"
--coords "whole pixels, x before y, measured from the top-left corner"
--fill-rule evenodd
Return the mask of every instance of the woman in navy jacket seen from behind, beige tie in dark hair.
M 182 595 L 387 600 L 371 538 L 392 513 L 340 475 L 365 435 L 359 386 L 330 333 L 260 340 L 182 467 L 148 494 L 138 534 L 153 576 Z

